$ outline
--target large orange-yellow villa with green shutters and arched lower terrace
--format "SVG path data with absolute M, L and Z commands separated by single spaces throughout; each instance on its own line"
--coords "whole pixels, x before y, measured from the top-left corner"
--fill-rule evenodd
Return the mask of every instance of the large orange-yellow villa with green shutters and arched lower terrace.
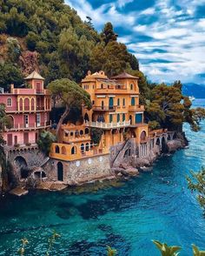
M 109 154 L 110 147 L 127 138 L 146 142 L 148 125 L 143 122 L 144 106 L 139 104 L 138 77 L 126 72 L 107 77 L 103 71 L 88 72 L 82 87 L 89 92 L 92 108 L 83 106 L 82 125 L 62 125 L 62 143 L 51 146 L 50 157 L 63 161 Z M 99 145 L 90 138 L 90 129 L 102 130 Z

